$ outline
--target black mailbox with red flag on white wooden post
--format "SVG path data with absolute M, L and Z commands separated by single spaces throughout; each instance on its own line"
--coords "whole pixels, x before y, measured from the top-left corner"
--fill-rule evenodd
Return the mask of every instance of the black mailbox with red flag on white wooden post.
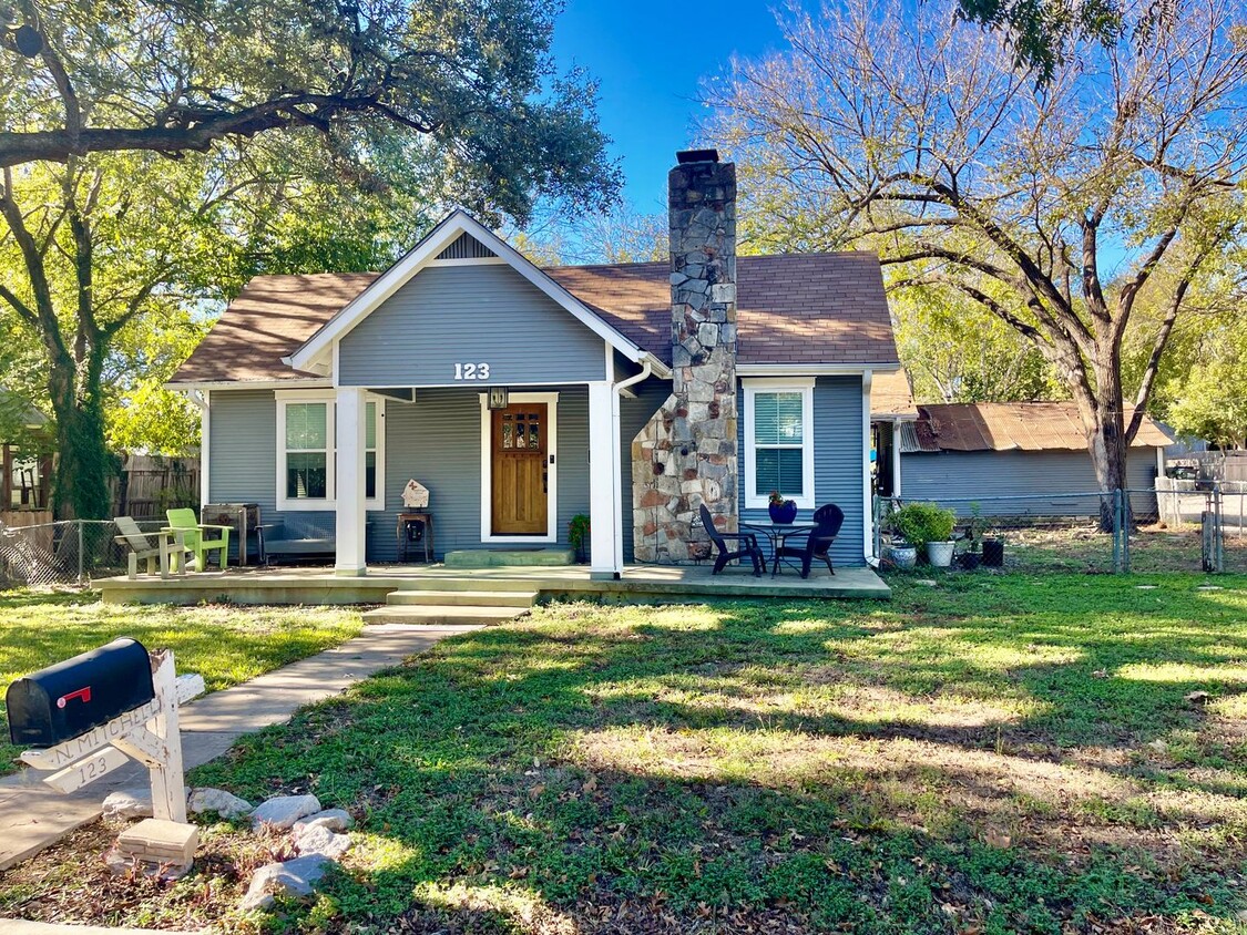
M 55 747 L 155 697 L 147 650 L 122 637 L 9 686 L 9 738 L 17 747 Z

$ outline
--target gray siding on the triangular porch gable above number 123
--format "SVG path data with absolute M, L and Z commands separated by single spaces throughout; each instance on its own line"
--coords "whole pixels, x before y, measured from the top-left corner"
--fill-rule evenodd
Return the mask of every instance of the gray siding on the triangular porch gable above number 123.
M 456 363 L 488 363 L 484 386 L 606 378 L 605 343 L 511 267 L 426 267 L 347 334 L 344 386 L 455 383 Z

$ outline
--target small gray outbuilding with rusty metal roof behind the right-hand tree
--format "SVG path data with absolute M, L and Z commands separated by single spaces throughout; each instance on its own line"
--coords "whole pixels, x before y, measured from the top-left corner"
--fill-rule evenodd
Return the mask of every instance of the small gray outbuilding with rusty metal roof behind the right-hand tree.
M 897 487 L 904 500 L 981 499 L 984 512 L 1081 515 L 1099 490 L 1074 403 L 919 404 L 897 420 Z M 877 420 L 883 419 L 880 414 Z M 1127 416 L 1129 418 L 1129 416 Z M 1143 416 L 1127 461 L 1132 491 L 1153 491 L 1172 439 Z M 1010 497 L 989 505 L 991 497 Z M 1155 515 L 1155 494 L 1132 495 L 1136 515 Z

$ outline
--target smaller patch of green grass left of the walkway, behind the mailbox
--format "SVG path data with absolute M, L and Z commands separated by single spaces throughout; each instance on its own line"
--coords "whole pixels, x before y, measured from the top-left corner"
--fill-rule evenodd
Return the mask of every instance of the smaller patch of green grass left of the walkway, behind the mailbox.
M 173 651 L 178 672 L 217 691 L 327 650 L 359 633 L 359 613 L 338 607 L 136 607 L 95 592 L 0 591 L 0 692 L 15 678 L 132 636 Z M 0 737 L 9 723 L 0 706 Z M 0 774 L 20 768 L 0 742 Z

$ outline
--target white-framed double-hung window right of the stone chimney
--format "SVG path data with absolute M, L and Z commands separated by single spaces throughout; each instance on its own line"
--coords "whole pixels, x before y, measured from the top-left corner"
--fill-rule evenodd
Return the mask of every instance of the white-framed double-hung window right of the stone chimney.
M 744 381 L 744 505 L 814 506 L 814 380 Z

